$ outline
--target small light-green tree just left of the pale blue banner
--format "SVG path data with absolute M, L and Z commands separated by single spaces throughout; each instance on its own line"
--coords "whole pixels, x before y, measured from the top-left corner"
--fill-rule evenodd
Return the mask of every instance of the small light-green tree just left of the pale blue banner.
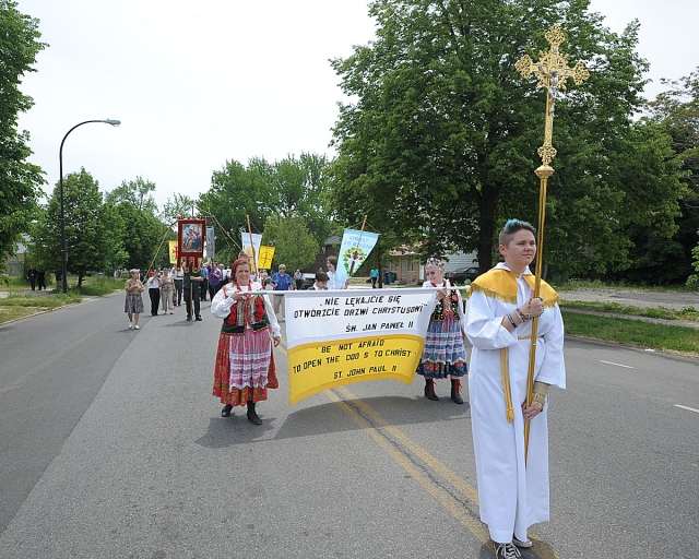
M 303 270 L 316 260 L 320 245 L 298 215 L 271 215 L 264 224 L 262 242 L 275 247 L 273 269 L 286 264 L 287 270 Z

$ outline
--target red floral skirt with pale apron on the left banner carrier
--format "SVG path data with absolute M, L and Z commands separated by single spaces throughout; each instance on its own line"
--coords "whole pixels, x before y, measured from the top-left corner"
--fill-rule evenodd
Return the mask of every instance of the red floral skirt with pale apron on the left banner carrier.
M 222 404 L 245 406 L 248 401 L 266 400 L 268 389 L 277 389 L 276 367 L 272 353 L 270 329 L 218 337 L 214 389 L 212 395 Z

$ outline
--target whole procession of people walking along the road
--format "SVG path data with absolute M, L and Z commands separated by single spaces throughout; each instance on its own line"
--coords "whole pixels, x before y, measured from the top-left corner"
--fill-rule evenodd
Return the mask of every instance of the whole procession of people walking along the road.
M 427 260 L 423 284 L 435 296 L 416 373 L 425 379 L 425 396 L 435 402 L 436 381 L 449 379 L 457 404 L 463 404 L 461 381 L 469 378 L 481 520 L 488 525 L 498 559 L 520 557 L 519 548 L 532 546 L 528 528 L 549 519 L 548 386 L 566 385 L 560 299 L 543 281 L 535 296 L 529 269 L 536 254 L 535 233 L 526 222 L 505 224 L 499 235 L 503 262 L 471 284 L 465 305 L 436 258 Z M 309 288 L 345 289 L 348 278 L 337 270 L 336 258 L 330 257 L 325 265 Z M 249 255 L 240 252 L 229 269 L 208 263 L 201 270 L 150 271 L 145 284 L 139 270 L 130 273 L 125 308 L 129 328 L 139 329 L 146 288 L 152 316 L 157 316 L 159 301 L 163 312 L 173 313 L 183 297 L 187 320 L 202 320 L 200 301 L 209 294 L 211 312 L 223 320 L 212 394 L 224 404 L 222 417 L 247 406 L 248 419 L 262 425 L 257 404 L 280 385 L 273 347 L 280 344 L 284 321 L 283 297 L 271 302 L 265 287 L 299 289 L 300 272 L 292 276 L 282 264 L 272 277 L 263 271 L 258 276 Z M 532 346 L 536 354 L 530 372 Z

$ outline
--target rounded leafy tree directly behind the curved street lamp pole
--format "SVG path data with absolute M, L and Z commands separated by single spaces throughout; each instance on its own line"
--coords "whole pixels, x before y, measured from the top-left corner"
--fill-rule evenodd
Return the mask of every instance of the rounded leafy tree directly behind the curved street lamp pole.
M 120 238 L 123 222 L 109 204 L 103 204 L 98 186 L 84 168 L 63 178 L 68 272 L 78 275 L 79 287 L 90 273 L 118 267 L 126 257 Z M 43 267 L 60 275 L 60 182 L 44 217 L 34 228 L 34 250 Z

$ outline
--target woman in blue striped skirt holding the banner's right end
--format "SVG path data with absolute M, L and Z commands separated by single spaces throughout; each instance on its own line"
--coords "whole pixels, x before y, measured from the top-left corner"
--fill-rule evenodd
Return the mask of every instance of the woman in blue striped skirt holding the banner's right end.
M 464 340 L 463 301 L 459 289 L 451 289 L 449 280 L 443 278 L 443 262 L 430 258 L 425 264 L 429 280 L 423 287 L 441 287 L 434 299 L 434 310 L 427 326 L 423 357 L 417 366 L 417 374 L 425 377 L 425 396 L 439 400 L 435 393 L 435 379 L 451 378 L 451 400 L 463 404 L 461 378 L 466 374 L 466 349 Z

